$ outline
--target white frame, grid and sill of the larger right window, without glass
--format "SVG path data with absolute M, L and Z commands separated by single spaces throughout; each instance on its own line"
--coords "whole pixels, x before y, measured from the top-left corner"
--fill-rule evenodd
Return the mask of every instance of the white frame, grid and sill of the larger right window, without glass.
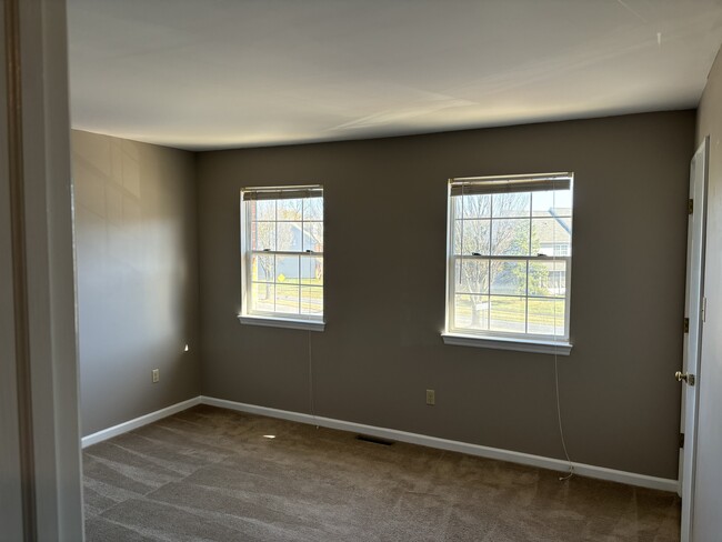
M 447 313 L 445 327 L 442 338 L 445 344 L 492 348 L 499 350 L 518 350 L 524 352 L 538 352 L 569 355 L 572 349 L 570 342 L 570 307 L 571 307 L 571 269 L 573 230 L 570 232 L 570 251 L 566 254 L 559 255 L 492 255 L 492 254 L 454 254 L 454 227 L 455 209 L 453 198 L 463 191 L 465 187 L 475 190 L 475 193 L 500 193 L 500 192 L 534 192 L 540 190 L 562 190 L 569 188 L 572 191 L 573 199 L 573 173 L 545 173 L 531 175 L 503 175 L 503 177 L 475 177 L 475 178 L 455 178 L 449 180 L 448 187 L 448 231 L 447 231 Z M 455 192 L 453 194 L 452 192 Z M 462 192 L 463 193 L 463 192 Z M 571 213 L 573 214 L 573 203 Z M 530 225 L 533 212 L 530 210 Z M 490 229 L 494 220 L 490 217 Z M 531 228 L 530 228 L 531 232 Z M 531 233 L 530 233 L 531 234 Z M 531 245 L 530 245 L 531 249 Z M 554 247 L 556 252 L 556 247 Z M 457 262 L 460 260 L 478 259 L 483 261 L 491 260 L 513 260 L 527 261 L 527 281 L 529 281 L 529 263 L 534 261 L 564 261 L 565 262 L 565 297 L 564 297 L 564 334 L 538 334 L 538 333 L 514 333 L 493 330 L 470 330 L 457 327 L 454 323 L 455 314 L 455 280 Z M 529 299 L 535 299 L 529 295 L 527 289 L 524 295 L 527 311 Z M 529 321 L 525 320 L 528 325 Z

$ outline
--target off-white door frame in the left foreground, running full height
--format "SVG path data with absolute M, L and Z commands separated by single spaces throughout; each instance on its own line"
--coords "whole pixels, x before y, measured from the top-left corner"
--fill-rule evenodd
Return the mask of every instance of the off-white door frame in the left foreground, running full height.
M 0 11 L 0 523 L 11 540 L 81 541 L 66 0 Z

